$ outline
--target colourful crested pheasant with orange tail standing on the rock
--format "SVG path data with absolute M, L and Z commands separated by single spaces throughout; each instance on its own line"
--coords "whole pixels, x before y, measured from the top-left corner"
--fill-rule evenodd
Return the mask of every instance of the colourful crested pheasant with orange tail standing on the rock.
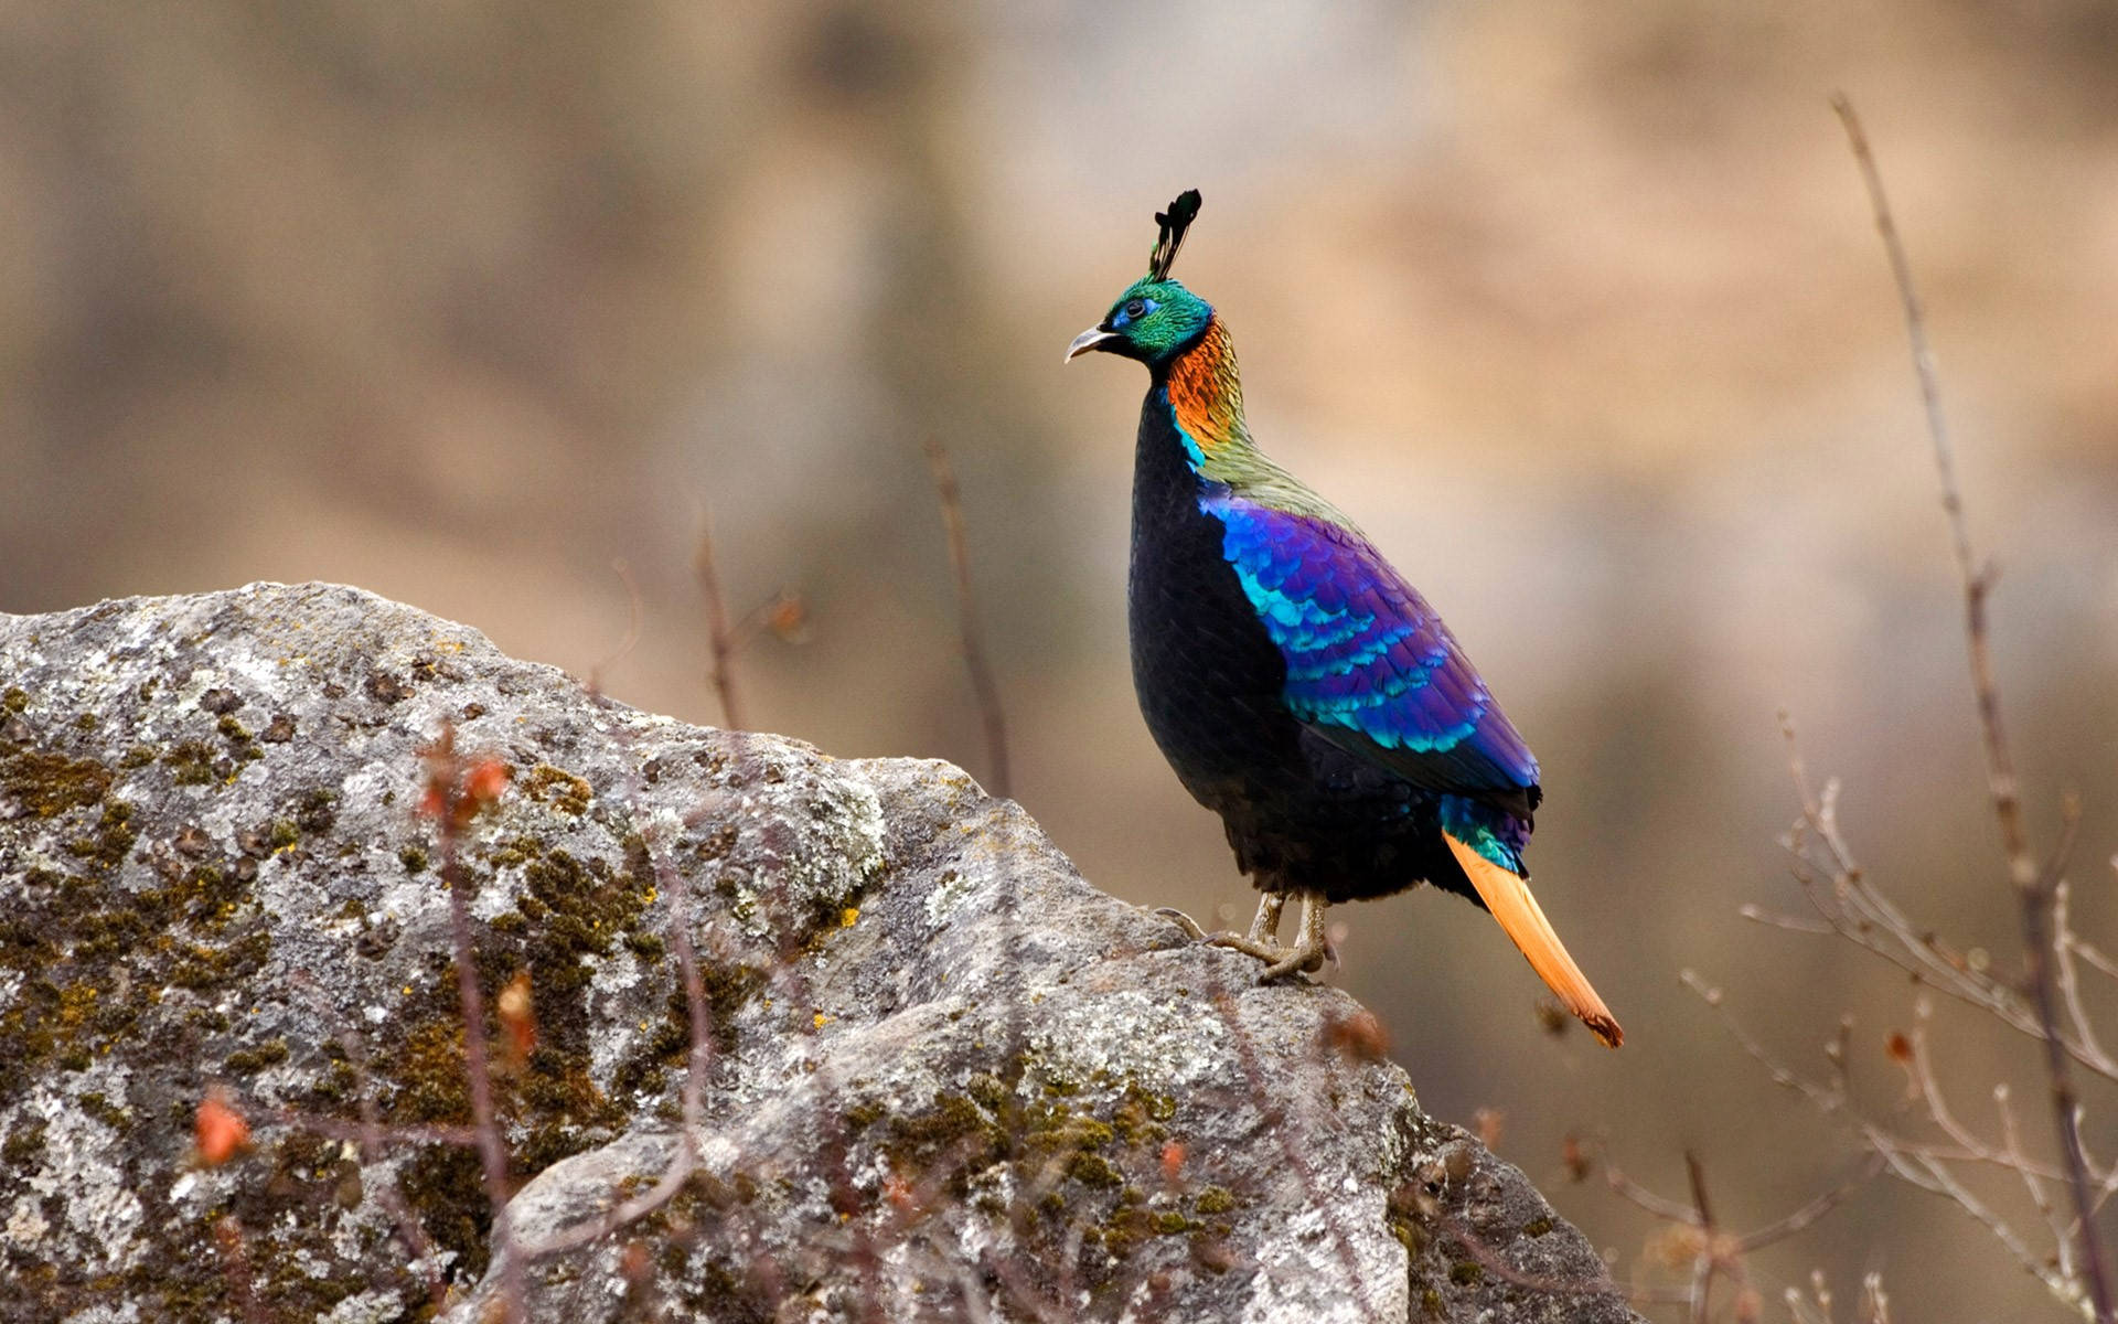
M 1440 614 L 1336 506 L 1252 439 L 1222 316 L 1171 280 L 1199 216 L 1156 212 L 1148 273 L 1065 360 L 1148 369 L 1127 574 L 1133 688 L 1184 788 L 1220 813 L 1260 892 L 1248 934 L 1192 938 L 1264 962 L 1336 962 L 1324 915 L 1432 883 L 1489 911 L 1601 1042 L 1625 1032 L 1529 892 L 1538 761 Z M 1279 919 L 1300 898 L 1300 934 Z

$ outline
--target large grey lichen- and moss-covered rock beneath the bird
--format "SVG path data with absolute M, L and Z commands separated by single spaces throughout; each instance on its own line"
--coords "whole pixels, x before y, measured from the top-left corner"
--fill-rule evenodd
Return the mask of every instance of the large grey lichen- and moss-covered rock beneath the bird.
M 453 845 L 443 731 L 508 769 Z M 534 1263 L 464 1144 L 451 849 L 515 1244 L 697 1165 Z M 633 712 L 356 589 L 0 616 L 0 1318 L 468 1322 L 510 1275 L 568 1322 L 1635 1318 L 1345 994 L 1254 987 L 962 771 Z M 534 1042 L 491 1021 L 523 972 Z M 250 1146 L 208 1167 L 216 1089 Z

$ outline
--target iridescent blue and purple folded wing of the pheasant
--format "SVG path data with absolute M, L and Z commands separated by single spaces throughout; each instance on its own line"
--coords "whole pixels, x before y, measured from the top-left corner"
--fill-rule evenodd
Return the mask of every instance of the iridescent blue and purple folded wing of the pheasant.
M 1425 790 L 1529 818 L 1538 761 L 1432 606 L 1358 532 L 1237 494 L 1201 502 L 1288 663 L 1288 708 Z

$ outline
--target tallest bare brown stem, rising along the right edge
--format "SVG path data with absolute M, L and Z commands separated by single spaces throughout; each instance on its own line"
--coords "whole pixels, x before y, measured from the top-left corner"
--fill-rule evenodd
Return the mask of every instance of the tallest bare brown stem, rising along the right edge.
M 2044 1032 L 2044 1068 L 2052 1089 L 2052 1116 L 2059 1127 L 2061 1150 L 2067 1163 L 2067 1188 L 2080 1218 L 2080 1277 L 2088 1288 L 2097 1324 L 2118 1320 L 2112 1307 L 2112 1288 L 2103 1267 L 2103 1250 L 2095 1235 L 2095 1197 L 2090 1193 L 2088 1161 L 2082 1155 L 2082 1133 L 2074 1080 L 2067 1070 L 2067 1051 L 2059 1040 L 2059 991 L 2052 970 L 2052 888 L 2046 883 L 2048 871 L 2038 866 L 2038 856 L 2029 845 L 2029 830 L 2023 822 L 2023 801 L 2014 773 L 2014 758 L 2008 750 L 2006 727 L 1999 714 L 1999 682 L 1993 676 L 1993 655 L 1987 644 L 1987 595 L 1993 589 L 1991 568 L 1980 568 L 1972 557 L 1970 530 L 1963 519 L 1963 496 L 1957 487 L 1955 451 L 1949 439 L 1949 422 L 1942 415 L 1940 375 L 1934 369 L 1934 352 L 1927 345 L 1927 318 L 1913 284 L 1913 267 L 1898 237 L 1898 225 L 1889 212 L 1889 197 L 1883 193 L 1883 176 L 1877 169 L 1868 136 L 1862 131 L 1860 114 L 1845 95 L 1832 100 L 1832 108 L 1845 123 L 1853 161 L 1860 165 L 1862 182 L 1868 186 L 1868 201 L 1874 205 L 1874 227 L 1889 254 L 1889 269 L 1898 282 L 1898 297 L 1904 303 L 1906 335 L 1913 343 L 1913 369 L 1919 375 L 1919 396 L 1927 411 L 1927 436 L 1934 443 L 1934 468 L 1942 487 L 1942 511 L 1949 515 L 1949 536 L 1955 549 L 1957 572 L 1963 580 L 1963 623 L 1970 652 L 1972 691 L 1978 701 L 1978 727 L 1985 735 L 1987 788 L 1993 799 L 1993 818 L 1999 822 L 2002 849 L 2008 856 L 2008 877 L 2014 883 L 2023 911 L 2023 964 L 2031 1000 L 2038 1010 L 2038 1025 Z

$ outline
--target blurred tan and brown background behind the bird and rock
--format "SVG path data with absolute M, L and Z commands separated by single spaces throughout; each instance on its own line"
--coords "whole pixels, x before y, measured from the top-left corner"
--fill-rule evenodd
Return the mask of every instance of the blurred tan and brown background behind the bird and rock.
M 1819 1072 L 1853 1008 L 1855 1078 L 1877 1108 L 1902 1085 L 1883 1042 L 1913 989 L 1737 917 L 1800 907 L 1781 708 L 1845 777 L 1870 877 L 2018 951 L 1834 89 L 1891 184 L 2004 566 L 2033 822 L 2050 845 L 2082 792 L 2078 909 L 2107 936 L 2107 0 L 4 6 L 0 610 L 343 580 L 718 722 L 710 511 L 731 608 L 786 587 L 809 616 L 807 642 L 737 659 L 750 724 L 985 775 L 938 436 L 1017 799 L 1103 888 L 1241 919 L 1218 822 L 1133 708 L 1146 381 L 1061 369 L 1142 271 L 1150 214 L 1199 186 L 1178 273 L 1235 330 L 1260 441 L 1425 589 L 1529 733 L 1540 896 L 1631 1040 L 1550 1038 L 1506 938 L 1430 892 L 1341 911 L 1336 979 L 1428 1110 L 1497 1110 L 1500 1152 L 1652 1280 L 1650 1220 L 1569 1184 L 1567 1133 L 1669 1195 L 1694 1148 L 1735 1229 L 1855 1157 L 1682 968 Z M 644 612 L 608 661 L 612 559 Z M 1942 1008 L 1936 1051 L 1987 1133 L 1997 1076 L 2042 1097 L 2025 1044 L 1970 1015 Z M 2118 1152 L 2118 1108 L 2088 1146 Z M 1959 1210 L 1887 1184 L 1752 1265 L 1766 1301 L 1813 1267 L 1843 1299 L 1879 1269 L 1908 1320 L 2061 1318 Z

